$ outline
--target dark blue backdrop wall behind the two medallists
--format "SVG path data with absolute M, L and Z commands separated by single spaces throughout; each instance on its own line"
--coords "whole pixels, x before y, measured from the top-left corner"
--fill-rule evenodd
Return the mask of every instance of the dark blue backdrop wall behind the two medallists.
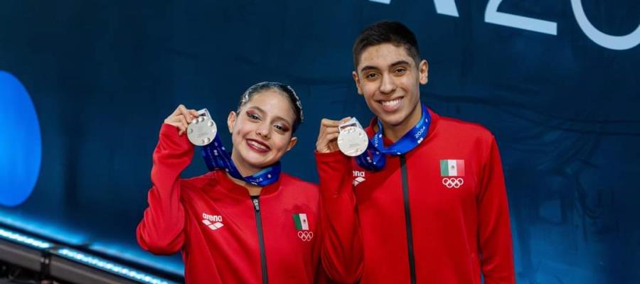
M 422 100 L 498 139 L 519 283 L 640 278 L 639 1 L 160 2 L 0 2 L 0 70 L 38 118 L 0 116 L 0 165 L 26 177 L 0 175 L 0 194 L 33 189 L 0 204 L 0 223 L 180 273 L 135 242 L 164 118 L 186 104 L 223 124 L 251 84 L 291 84 L 306 121 L 284 170 L 316 181 L 319 120 L 371 116 L 353 39 L 392 19 L 430 62 Z M 2 109 L 29 105 L 7 89 Z M 183 176 L 205 170 L 196 156 Z

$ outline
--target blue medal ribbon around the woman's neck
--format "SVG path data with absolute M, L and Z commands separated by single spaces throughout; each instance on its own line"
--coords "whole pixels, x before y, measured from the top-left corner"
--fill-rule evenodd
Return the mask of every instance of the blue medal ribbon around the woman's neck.
M 280 177 L 280 162 L 274 163 L 253 175 L 243 177 L 238 171 L 238 168 L 235 167 L 233 160 L 231 160 L 231 155 L 227 152 L 217 135 L 211 143 L 202 147 L 202 156 L 209 170 L 224 169 L 233 178 L 244 180 L 252 185 L 264 187 L 276 182 Z

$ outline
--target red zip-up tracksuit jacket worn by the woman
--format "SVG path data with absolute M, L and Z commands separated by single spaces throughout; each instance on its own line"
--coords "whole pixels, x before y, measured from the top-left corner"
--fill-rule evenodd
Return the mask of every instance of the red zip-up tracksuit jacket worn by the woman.
M 321 244 L 316 185 L 282 174 L 255 204 L 222 170 L 181 179 L 192 157 L 186 136 L 164 124 L 149 208 L 137 228 L 140 246 L 181 251 L 186 283 L 314 283 Z

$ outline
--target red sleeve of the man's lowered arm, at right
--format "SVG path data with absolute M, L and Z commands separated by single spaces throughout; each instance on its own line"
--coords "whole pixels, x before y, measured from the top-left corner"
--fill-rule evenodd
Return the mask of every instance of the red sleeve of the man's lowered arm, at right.
M 500 153 L 493 136 L 482 174 L 477 202 L 480 261 L 484 283 L 516 283 L 509 206 Z

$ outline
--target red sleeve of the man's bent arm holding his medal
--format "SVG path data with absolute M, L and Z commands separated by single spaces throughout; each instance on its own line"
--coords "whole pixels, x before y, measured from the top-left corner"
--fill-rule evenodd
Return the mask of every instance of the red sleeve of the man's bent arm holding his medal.
M 316 153 L 323 209 L 322 265 L 329 277 L 354 283 L 362 276 L 363 245 L 353 193 L 351 158 L 336 151 Z

